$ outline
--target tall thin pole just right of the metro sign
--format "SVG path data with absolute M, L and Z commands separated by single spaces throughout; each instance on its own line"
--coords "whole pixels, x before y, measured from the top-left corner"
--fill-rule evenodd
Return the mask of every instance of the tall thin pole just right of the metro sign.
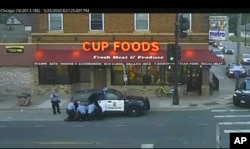
M 237 24 L 237 53 L 236 53 L 236 64 L 240 64 L 240 42 L 241 42 L 241 14 L 238 14 Z M 236 89 L 239 86 L 239 75 L 236 75 Z

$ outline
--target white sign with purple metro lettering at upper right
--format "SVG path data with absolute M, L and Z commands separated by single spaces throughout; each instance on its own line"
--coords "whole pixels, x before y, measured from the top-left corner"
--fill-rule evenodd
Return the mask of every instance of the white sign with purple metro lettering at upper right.
M 228 40 L 228 16 L 209 16 L 209 39 Z

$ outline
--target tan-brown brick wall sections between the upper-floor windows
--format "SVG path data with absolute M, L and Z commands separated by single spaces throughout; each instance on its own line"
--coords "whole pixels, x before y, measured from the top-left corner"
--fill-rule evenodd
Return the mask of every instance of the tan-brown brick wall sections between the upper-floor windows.
M 208 31 L 208 15 L 201 13 L 192 14 L 193 32 Z M 35 33 L 47 33 L 48 14 L 37 14 L 35 17 Z M 133 33 L 134 14 L 133 13 L 107 13 L 104 14 L 104 28 L 106 33 Z M 151 33 L 173 33 L 175 14 L 172 13 L 152 13 L 150 14 Z M 64 14 L 64 33 L 88 33 L 89 14 Z

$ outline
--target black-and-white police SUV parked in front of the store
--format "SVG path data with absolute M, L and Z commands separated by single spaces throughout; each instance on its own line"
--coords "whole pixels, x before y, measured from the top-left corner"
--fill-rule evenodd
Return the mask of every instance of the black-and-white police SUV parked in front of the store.
M 71 100 L 89 104 L 90 96 L 95 96 L 103 114 L 124 113 L 131 117 L 140 116 L 150 110 L 148 97 L 129 96 L 122 92 L 105 87 L 103 89 L 86 89 L 75 92 Z

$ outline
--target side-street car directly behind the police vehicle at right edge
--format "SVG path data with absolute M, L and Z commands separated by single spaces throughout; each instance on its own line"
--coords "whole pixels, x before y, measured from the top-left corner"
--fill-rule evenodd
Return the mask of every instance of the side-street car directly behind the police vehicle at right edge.
M 247 76 L 246 69 L 242 65 L 238 65 L 236 63 L 230 63 L 227 65 L 226 75 L 229 78 L 235 77 L 235 73 L 237 73 L 237 72 L 239 72 L 239 77 L 246 77 Z

